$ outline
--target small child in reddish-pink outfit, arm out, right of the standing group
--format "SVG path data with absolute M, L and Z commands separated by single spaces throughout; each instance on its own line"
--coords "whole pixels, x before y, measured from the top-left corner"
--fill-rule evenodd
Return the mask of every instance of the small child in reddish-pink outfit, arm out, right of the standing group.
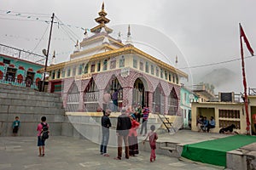
M 153 160 L 155 161 L 156 140 L 158 139 L 157 133 L 154 132 L 154 129 L 155 129 L 154 125 L 151 125 L 150 127 L 151 131 L 147 134 L 146 139 L 143 140 L 143 144 L 145 144 L 145 141 L 149 137 L 149 144 L 151 148 L 150 162 L 152 162 Z

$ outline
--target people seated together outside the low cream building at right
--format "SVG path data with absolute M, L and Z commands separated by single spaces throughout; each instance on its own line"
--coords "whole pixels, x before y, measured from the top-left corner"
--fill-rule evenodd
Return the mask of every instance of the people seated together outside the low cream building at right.
M 207 120 L 207 116 L 199 116 L 196 121 L 198 132 L 209 132 L 211 128 L 215 127 L 215 119 L 211 116 L 210 120 Z

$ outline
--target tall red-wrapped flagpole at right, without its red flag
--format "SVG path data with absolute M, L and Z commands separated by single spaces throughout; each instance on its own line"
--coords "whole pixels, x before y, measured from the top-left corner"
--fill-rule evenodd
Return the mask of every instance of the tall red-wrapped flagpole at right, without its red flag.
M 245 64 L 244 64 L 244 57 L 243 57 L 243 48 L 242 48 L 242 40 L 241 40 L 241 23 L 239 23 L 240 28 L 240 50 L 241 50 L 241 71 L 242 71 L 242 79 L 243 79 L 243 88 L 244 88 L 244 106 L 246 110 L 246 119 L 247 119 L 247 134 L 250 134 L 250 119 L 249 119 L 249 113 L 248 113 L 248 98 L 247 98 L 247 80 L 246 80 L 246 74 L 245 74 Z

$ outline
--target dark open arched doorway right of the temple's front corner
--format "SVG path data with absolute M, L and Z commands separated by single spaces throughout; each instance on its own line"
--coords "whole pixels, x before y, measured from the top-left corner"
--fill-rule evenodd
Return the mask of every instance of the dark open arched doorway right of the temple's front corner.
M 148 106 L 148 92 L 146 92 L 143 81 L 140 78 L 137 78 L 134 82 L 132 102 L 132 105 L 140 104 Z

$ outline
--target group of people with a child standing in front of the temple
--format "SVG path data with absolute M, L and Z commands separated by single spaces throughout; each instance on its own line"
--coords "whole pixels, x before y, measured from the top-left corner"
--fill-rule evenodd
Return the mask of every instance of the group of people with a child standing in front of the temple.
M 103 110 L 102 116 L 102 143 L 100 146 L 100 153 L 103 156 L 109 156 L 107 153 L 108 147 L 108 139 L 109 139 L 109 127 L 111 127 L 111 122 L 109 119 L 111 110 Z M 137 107 L 132 108 L 129 106 L 127 109 L 123 108 L 121 110 L 121 115 L 117 118 L 116 125 L 116 135 L 118 142 L 118 154 L 114 159 L 121 160 L 122 159 L 122 144 L 125 144 L 125 158 L 129 159 L 130 156 L 136 156 L 139 153 L 138 150 L 138 139 L 137 139 L 137 129 L 140 126 L 140 118 L 143 118 L 143 124 L 141 127 L 140 134 L 145 133 L 143 136 L 146 136 L 144 141 L 149 138 L 149 144 L 151 146 L 151 156 L 150 161 L 155 160 L 155 143 L 157 134 L 154 132 L 154 125 L 150 127 L 151 131 L 147 133 L 147 122 L 148 122 L 148 107 L 141 107 L 141 105 L 137 105 Z M 143 142 L 144 144 L 144 142 Z

